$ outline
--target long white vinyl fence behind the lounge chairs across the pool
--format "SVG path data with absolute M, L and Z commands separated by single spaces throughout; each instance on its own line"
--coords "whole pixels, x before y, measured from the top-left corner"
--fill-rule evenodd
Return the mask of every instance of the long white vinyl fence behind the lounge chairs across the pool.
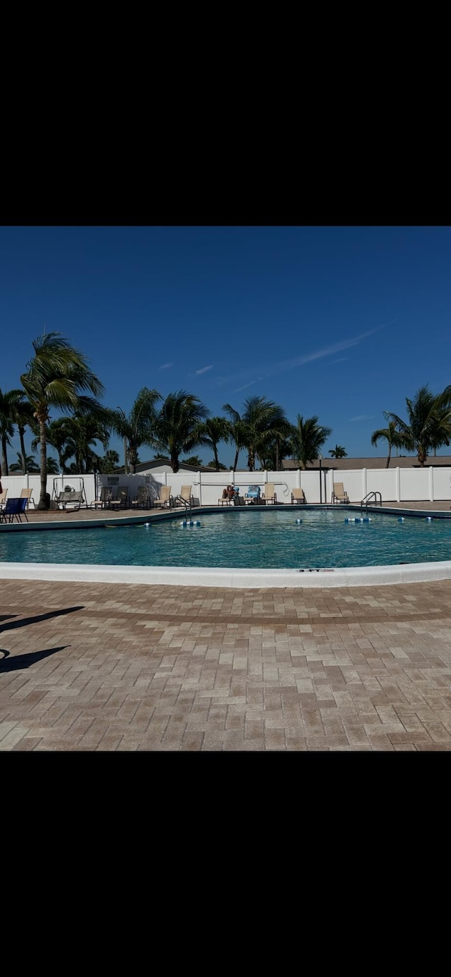
M 184 486 L 190 486 L 195 505 L 218 505 L 223 488 L 233 485 L 244 495 L 249 486 L 258 485 L 265 492 L 266 483 L 274 484 L 278 504 L 289 504 L 293 488 L 303 488 L 307 502 L 317 504 L 332 500 L 334 484 L 341 482 L 348 492 L 350 502 L 360 502 L 369 492 L 377 491 L 384 503 L 413 501 L 443 501 L 451 499 L 451 468 L 388 468 L 355 469 L 351 471 L 290 472 L 158 472 L 138 475 L 50 475 L 47 491 L 51 498 L 58 497 L 64 488 L 84 489 L 88 505 L 99 497 L 103 486 L 113 493 L 128 488 L 130 499 L 136 498 L 139 486 L 146 486 L 151 498 L 156 498 L 161 486 L 170 486 L 176 497 Z M 39 475 L 9 475 L 2 478 L 8 497 L 21 494 L 21 488 L 31 488 L 35 503 L 39 501 Z M 372 500 L 370 500 L 371 502 Z

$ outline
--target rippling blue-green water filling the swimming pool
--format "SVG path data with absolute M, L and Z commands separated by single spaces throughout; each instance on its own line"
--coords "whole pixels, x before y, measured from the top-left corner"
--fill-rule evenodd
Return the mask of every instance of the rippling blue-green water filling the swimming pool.
M 359 513 L 348 510 L 348 518 Z M 341 512 L 266 509 L 182 517 L 151 526 L 0 533 L 0 560 L 109 566 L 301 569 L 451 560 L 451 520 L 373 514 L 346 523 Z M 296 525 L 296 519 L 302 519 Z

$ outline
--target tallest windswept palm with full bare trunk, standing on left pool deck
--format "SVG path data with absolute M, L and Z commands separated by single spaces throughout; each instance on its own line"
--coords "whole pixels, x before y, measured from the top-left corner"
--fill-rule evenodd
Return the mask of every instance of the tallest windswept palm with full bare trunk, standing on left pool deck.
M 33 342 L 33 350 L 34 357 L 21 375 L 21 384 L 39 424 L 41 492 L 38 509 L 48 509 L 46 425 L 50 421 L 49 408 L 57 407 L 63 413 L 76 410 L 84 415 L 95 410 L 100 414 L 102 405 L 95 398 L 102 396 L 103 385 L 86 357 L 61 333 L 49 332 L 38 337 Z M 94 397 L 85 391 L 90 391 Z

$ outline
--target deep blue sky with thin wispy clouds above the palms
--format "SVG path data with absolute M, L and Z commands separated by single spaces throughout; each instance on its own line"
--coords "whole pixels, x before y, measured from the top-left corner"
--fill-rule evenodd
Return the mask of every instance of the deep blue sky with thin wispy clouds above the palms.
M 20 386 L 45 327 L 126 413 L 143 386 L 213 414 L 265 395 L 332 428 L 325 456 L 385 455 L 383 410 L 451 383 L 450 268 L 448 227 L 2 228 L 0 387 Z

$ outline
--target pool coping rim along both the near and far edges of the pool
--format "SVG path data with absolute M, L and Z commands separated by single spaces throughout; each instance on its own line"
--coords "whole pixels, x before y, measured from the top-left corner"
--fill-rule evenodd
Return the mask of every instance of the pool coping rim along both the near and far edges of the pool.
M 248 507 L 245 507 L 248 511 Z M 255 509 L 262 510 L 263 506 L 256 506 Z M 279 505 L 271 506 L 271 509 L 291 511 L 311 509 L 324 509 L 337 511 L 337 506 L 333 505 Z M 195 515 L 207 515 L 217 512 L 233 512 L 237 507 L 219 506 L 198 506 L 193 512 Z M 347 512 L 360 512 L 359 505 L 349 504 L 343 506 Z M 366 507 L 365 507 L 366 512 Z M 389 506 L 368 506 L 368 512 L 381 514 L 392 514 L 399 516 L 414 516 L 425 519 L 428 517 L 437 519 L 451 518 L 443 511 L 418 510 L 418 509 L 393 509 Z M 147 513 L 137 516 L 115 516 L 113 518 L 100 517 L 99 519 L 77 520 L 76 522 L 48 522 L 48 523 L 16 523 L 6 524 L 1 529 L 7 531 L 45 531 L 45 530 L 72 530 L 89 529 L 103 526 L 128 526 L 140 525 L 152 522 L 161 522 L 171 519 L 178 519 L 184 516 L 184 510 L 178 512 L 174 509 L 168 512 Z M 60 580 L 67 582 L 93 582 L 93 583 L 132 583 L 132 584 L 153 584 L 153 585 L 172 585 L 172 586 L 198 586 L 198 587 L 229 587 L 229 588 L 305 588 L 305 587 L 353 587 L 353 586 L 377 586 L 392 583 L 420 583 L 431 580 L 443 580 L 451 578 L 451 561 L 437 561 L 436 563 L 412 563 L 396 564 L 387 567 L 341 567 L 321 569 L 300 569 L 300 570 L 252 570 L 247 568 L 227 568 L 227 567 L 129 567 L 115 566 L 108 567 L 102 564 L 40 564 L 40 563 L 2 563 L 0 562 L 0 579 L 19 579 L 19 580 Z

